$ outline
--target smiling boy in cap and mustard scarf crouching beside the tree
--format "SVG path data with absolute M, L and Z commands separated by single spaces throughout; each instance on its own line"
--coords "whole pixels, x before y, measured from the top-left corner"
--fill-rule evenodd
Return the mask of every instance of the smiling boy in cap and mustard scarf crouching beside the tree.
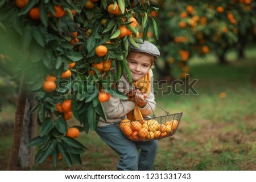
M 96 128 L 96 133 L 120 156 L 117 170 L 152 170 L 158 150 L 157 140 L 130 141 L 114 125 L 114 122 L 126 117 L 130 120 L 142 119 L 155 109 L 151 66 L 160 56 L 160 52 L 154 44 L 148 41 L 138 45 L 139 48 L 131 47 L 127 56 L 133 83 L 129 83 L 124 73 L 118 84 L 118 90 L 130 99 L 122 100 L 112 96 L 109 101 L 103 103 L 108 120 L 104 121 L 100 118 Z M 141 150 L 139 154 L 138 150 Z

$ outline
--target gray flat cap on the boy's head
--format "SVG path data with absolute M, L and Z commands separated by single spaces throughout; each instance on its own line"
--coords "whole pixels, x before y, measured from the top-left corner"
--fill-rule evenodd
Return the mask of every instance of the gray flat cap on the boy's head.
M 137 44 L 139 45 L 139 48 L 135 48 L 134 46 L 131 46 L 130 51 L 148 53 L 148 54 L 151 54 L 152 56 L 155 56 L 156 58 L 160 56 L 160 52 L 154 44 L 146 40 L 144 41 L 143 44 L 139 44 L 139 43 Z

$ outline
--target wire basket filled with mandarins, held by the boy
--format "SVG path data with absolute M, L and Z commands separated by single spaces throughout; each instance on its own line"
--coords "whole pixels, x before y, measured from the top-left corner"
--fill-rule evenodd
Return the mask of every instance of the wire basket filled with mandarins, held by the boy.
M 156 106 L 159 107 L 159 105 Z M 123 135 L 131 141 L 152 141 L 154 139 L 170 137 L 173 136 L 177 128 L 179 128 L 183 113 L 170 114 L 167 111 L 165 112 L 166 115 L 164 116 L 156 117 L 153 112 L 154 116 L 151 118 L 133 121 L 124 119 L 115 122 L 115 125 L 122 131 Z

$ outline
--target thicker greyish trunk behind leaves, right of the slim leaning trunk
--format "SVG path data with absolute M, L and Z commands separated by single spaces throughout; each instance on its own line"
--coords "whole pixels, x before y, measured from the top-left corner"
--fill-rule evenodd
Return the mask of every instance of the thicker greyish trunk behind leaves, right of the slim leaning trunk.
M 29 113 L 34 107 L 34 98 L 32 95 L 27 96 L 26 107 L 23 118 L 22 141 L 19 149 L 19 166 L 23 169 L 34 166 L 35 147 L 27 147 L 28 142 L 36 136 L 36 113 Z

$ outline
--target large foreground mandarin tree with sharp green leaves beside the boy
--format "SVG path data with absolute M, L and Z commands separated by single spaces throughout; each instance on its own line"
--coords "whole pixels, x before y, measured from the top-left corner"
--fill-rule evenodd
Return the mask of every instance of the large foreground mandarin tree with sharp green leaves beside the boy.
M 57 166 L 61 154 L 68 166 L 74 162 L 81 164 L 80 154 L 85 146 L 69 137 L 68 128 L 88 133 L 96 128 L 100 117 L 106 120 L 99 93 L 127 99 L 114 87 L 124 70 L 131 80 L 126 56 L 130 45 L 138 46 L 146 38 L 135 38 L 137 32 L 147 35 L 152 26 L 159 37 L 158 23 L 148 16 L 152 11 L 158 9 L 150 1 L 136 0 L 34 0 L 20 6 L 13 1 L 1 1 L 0 25 L 9 30 L 1 36 L 15 35 L 9 44 L 19 43 L 23 53 L 22 58 L 13 59 L 9 69 L 19 70 L 15 77 L 20 78 L 23 100 L 26 90 L 36 95 L 37 104 L 30 112 L 38 113 L 42 127 L 39 136 L 28 143 L 36 146 L 36 163 L 51 156 Z M 127 28 L 127 35 L 120 36 L 122 26 Z M 11 57 L 15 49 L 1 51 L 0 54 Z M 103 71 L 94 66 L 102 62 Z M 16 118 L 22 122 L 24 101 L 19 102 L 18 98 L 18 103 L 16 109 L 21 112 Z M 79 126 L 69 124 L 72 117 L 80 122 Z M 18 136 L 19 131 L 14 129 L 14 133 Z M 19 141 L 14 141 L 13 146 L 18 146 Z M 11 152 L 9 170 L 15 169 L 15 155 Z

